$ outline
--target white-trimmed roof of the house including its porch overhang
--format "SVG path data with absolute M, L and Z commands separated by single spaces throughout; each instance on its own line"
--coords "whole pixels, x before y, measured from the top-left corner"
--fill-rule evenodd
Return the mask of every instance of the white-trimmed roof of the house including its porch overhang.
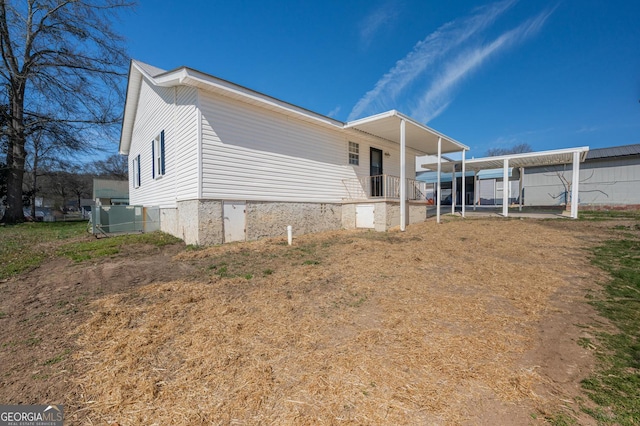
M 176 87 L 187 85 L 213 92 L 225 97 L 259 106 L 299 120 L 314 123 L 323 127 L 331 127 L 346 131 L 364 132 L 375 137 L 394 143 L 400 143 L 400 121 L 408 123 L 406 126 L 406 145 L 425 153 L 435 153 L 437 140 L 442 140 L 442 152 L 456 152 L 469 148 L 454 139 L 421 124 L 412 118 L 392 110 L 383 114 L 366 117 L 360 120 L 343 123 L 342 121 L 318 114 L 306 108 L 282 101 L 264 93 L 240 86 L 230 81 L 194 70 L 189 67 L 179 67 L 171 71 L 132 60 L 129 67 L 129 81 L 127 83 L 127 98 L 125 101 L 122 133 L 120 136 L 121 154 L 128 154 L 131 145 L 133 125 L 138 107 L 138 98 L 143 79 L 150 84 L 160 87 Z M 435 141 L 435 142 L 434 142 Z M 435 148 L 434 148 L 435 147 Z

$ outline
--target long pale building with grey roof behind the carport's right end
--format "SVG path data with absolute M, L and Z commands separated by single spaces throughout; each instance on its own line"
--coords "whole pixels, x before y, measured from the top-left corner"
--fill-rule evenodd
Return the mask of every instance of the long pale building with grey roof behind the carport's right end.
M 571 166 L 524 170 L 526 206 L 564 205 Z M 640 206 L 640 144 L 589 150 L 580 166 L 580 207 Z

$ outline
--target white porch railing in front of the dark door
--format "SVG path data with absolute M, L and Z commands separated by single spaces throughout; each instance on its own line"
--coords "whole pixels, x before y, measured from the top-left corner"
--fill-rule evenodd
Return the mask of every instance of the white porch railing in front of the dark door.
M 400 178 L 391 175 L 363 176 L 344 179 L 348 199 L 400 199 Z M 407 200 L 425 200 L 429 184 L 407 178 Z

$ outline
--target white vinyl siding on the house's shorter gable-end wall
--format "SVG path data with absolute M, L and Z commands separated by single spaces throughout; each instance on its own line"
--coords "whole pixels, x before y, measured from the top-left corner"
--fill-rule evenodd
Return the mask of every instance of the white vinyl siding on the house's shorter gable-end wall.
M 155 87 L 143 81 L 130 148 L 130 155 L 140 155 L 142 185 L 130 191 L 131 204 L 175 207 L 177 200 L 198 197 L 196 94 L 195 88 Z M 161 160 L 160 153 L 153 147 L 162 131 L 164 176 L 153 179 L 162 174 L 162 164 L 154 163 Z

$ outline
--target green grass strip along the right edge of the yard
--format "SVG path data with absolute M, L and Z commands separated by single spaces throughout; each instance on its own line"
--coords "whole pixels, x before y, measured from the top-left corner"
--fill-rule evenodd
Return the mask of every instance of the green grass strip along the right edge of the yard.
M 601 327 L 597 333 L 599 365 L 582 381 L 597 407 L 583 407 L 583 411 L 601 424 L 640 424 L 640 240 L 623 236 L 605 241 L 593 252 L 593 263 L 607 271 L 611 280 L 603 285 L 603 296 L 589 303 L 617 331 Z

